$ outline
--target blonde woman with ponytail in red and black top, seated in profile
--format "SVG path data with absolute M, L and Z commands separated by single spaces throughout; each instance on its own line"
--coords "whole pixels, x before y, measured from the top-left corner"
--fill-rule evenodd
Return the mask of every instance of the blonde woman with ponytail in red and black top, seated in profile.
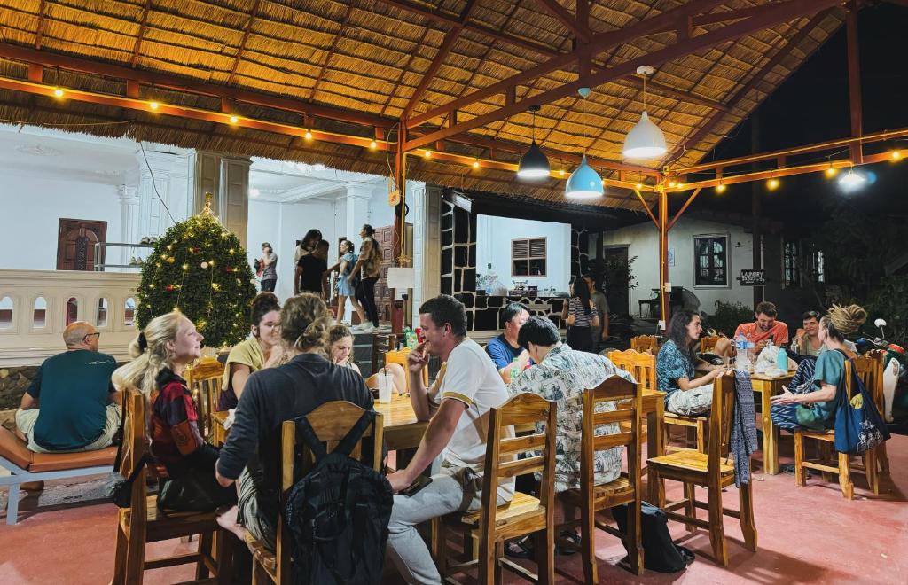
M 114 385 L 133 385 L 151 405 L 150 428 L 159 478 L 158 507 L 210 512 L 236 502 L 236 492 L 214 481 L 217 449 L 199 432 L 199 415 L 183 370 L 201 356 L 202 334 L 183 313 L 155 317 L 133 341 L 134 359 L 114 372 Z

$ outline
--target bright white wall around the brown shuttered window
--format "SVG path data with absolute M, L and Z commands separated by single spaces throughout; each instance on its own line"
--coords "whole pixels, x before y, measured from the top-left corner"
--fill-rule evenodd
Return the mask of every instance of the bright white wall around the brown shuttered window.
M 528 280 L 528 286 L 543 288 L 554 287 L 557 290 L 568 290 L 570 281 L 570 225 L 551 221 L 532 221 L 529 219 L 499 218 L 479 215 L 476 219 L 476 274 L 477 277 L 491 269 L 498 274 L 506 287 L 512 288 L 511 278 L 511 239 L 546 238 L 547 261 L 546 277 L 518 277 Z

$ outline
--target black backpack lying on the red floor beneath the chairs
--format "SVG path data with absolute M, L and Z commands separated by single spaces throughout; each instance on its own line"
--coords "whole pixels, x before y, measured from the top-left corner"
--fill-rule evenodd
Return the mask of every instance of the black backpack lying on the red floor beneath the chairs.
M 612 508 L 618 530 L 627 534 L 627 504 Z M 694 562 L 694 553 L 672 541 L 668 517 L 662 508 L 641 502 L 640 531 L 643 541 L 643 566 L 659 573 L 676 573 Z M 627 548 L 627 545 L 626 547 Z

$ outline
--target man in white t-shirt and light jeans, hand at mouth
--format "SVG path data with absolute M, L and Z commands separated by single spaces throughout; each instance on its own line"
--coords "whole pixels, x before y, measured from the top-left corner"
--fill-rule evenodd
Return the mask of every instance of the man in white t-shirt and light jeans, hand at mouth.
M 489 430 L 489 409 L 508 400 L 501 376 L 478 343 L 467 337 L 467 311 L 454 297 L 439 295 L 419 307 L 424 343 L 408 356 L 410 402 L 420 421 L 429 421 L 406 469 L 388 481 L 400 492 L 441 455 L 441 470 L 411 496 L 394 496 L 388 524 L 390 559 L 408 583 L 439 583 L 439 571 L 416 526 L 450 512 L 479 508 Z M 430 389 L 422 383 L 429 355 L 444 363 Z M 513 436 L 513 429 L 508 436 Z M 514 495 L 514 480 L 498 484 L 498 503 Z

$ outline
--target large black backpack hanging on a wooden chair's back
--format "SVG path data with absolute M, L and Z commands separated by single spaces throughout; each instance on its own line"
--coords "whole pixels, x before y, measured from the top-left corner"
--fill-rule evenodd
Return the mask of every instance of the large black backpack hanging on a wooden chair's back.
M 306 417 L 297 421 L 315 457 L 315 466 L 284 501 L 297 585 L 381 581 L 394 494 L 383 475 L 350 457 L 374 420 L 374 412 L 363 413 L 330 454 Z

